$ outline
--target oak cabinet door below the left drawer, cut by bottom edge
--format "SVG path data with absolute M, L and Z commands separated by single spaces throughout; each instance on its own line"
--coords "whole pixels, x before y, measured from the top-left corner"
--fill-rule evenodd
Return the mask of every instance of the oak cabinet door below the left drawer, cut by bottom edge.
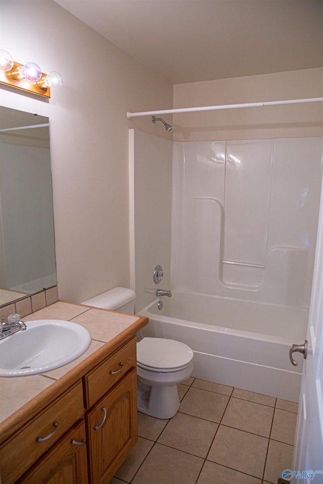
M 17 481 L 17 484 L 36 483 L 88 483 L 84 420 L 68 432 L 27 474 Z

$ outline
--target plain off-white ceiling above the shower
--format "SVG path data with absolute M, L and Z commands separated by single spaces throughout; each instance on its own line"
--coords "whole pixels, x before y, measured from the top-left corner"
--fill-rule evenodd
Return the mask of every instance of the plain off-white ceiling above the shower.
M 323 66 L 323 0 L 55 0 L 174 84 Z

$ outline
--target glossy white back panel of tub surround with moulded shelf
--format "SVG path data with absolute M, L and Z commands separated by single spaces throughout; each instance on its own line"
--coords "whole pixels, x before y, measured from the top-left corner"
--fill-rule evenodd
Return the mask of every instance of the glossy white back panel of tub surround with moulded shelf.
M 178 145 L 172 289 L 307 308 L 322 138 Z

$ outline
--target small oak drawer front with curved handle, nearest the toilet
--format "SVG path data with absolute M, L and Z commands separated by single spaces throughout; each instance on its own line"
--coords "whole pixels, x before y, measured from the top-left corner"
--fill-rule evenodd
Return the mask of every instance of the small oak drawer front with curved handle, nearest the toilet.
M 136 367 L 136 338 L 133 338 L 85 377 L 87 408 L 94 405 L 128 370 Z

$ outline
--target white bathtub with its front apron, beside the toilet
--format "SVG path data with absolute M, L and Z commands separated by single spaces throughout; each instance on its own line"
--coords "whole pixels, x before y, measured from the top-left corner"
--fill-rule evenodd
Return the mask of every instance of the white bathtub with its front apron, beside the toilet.
M 308 311 L 302 308 L 172 291 L 140 311 L 149 323 L 140 334 L 170 338 L 194 351 L 193 377 L 298 402 Z M 158 310 L 157 302 L 163 302 Z M 294 353 L 295 354 L 295 353 Z

